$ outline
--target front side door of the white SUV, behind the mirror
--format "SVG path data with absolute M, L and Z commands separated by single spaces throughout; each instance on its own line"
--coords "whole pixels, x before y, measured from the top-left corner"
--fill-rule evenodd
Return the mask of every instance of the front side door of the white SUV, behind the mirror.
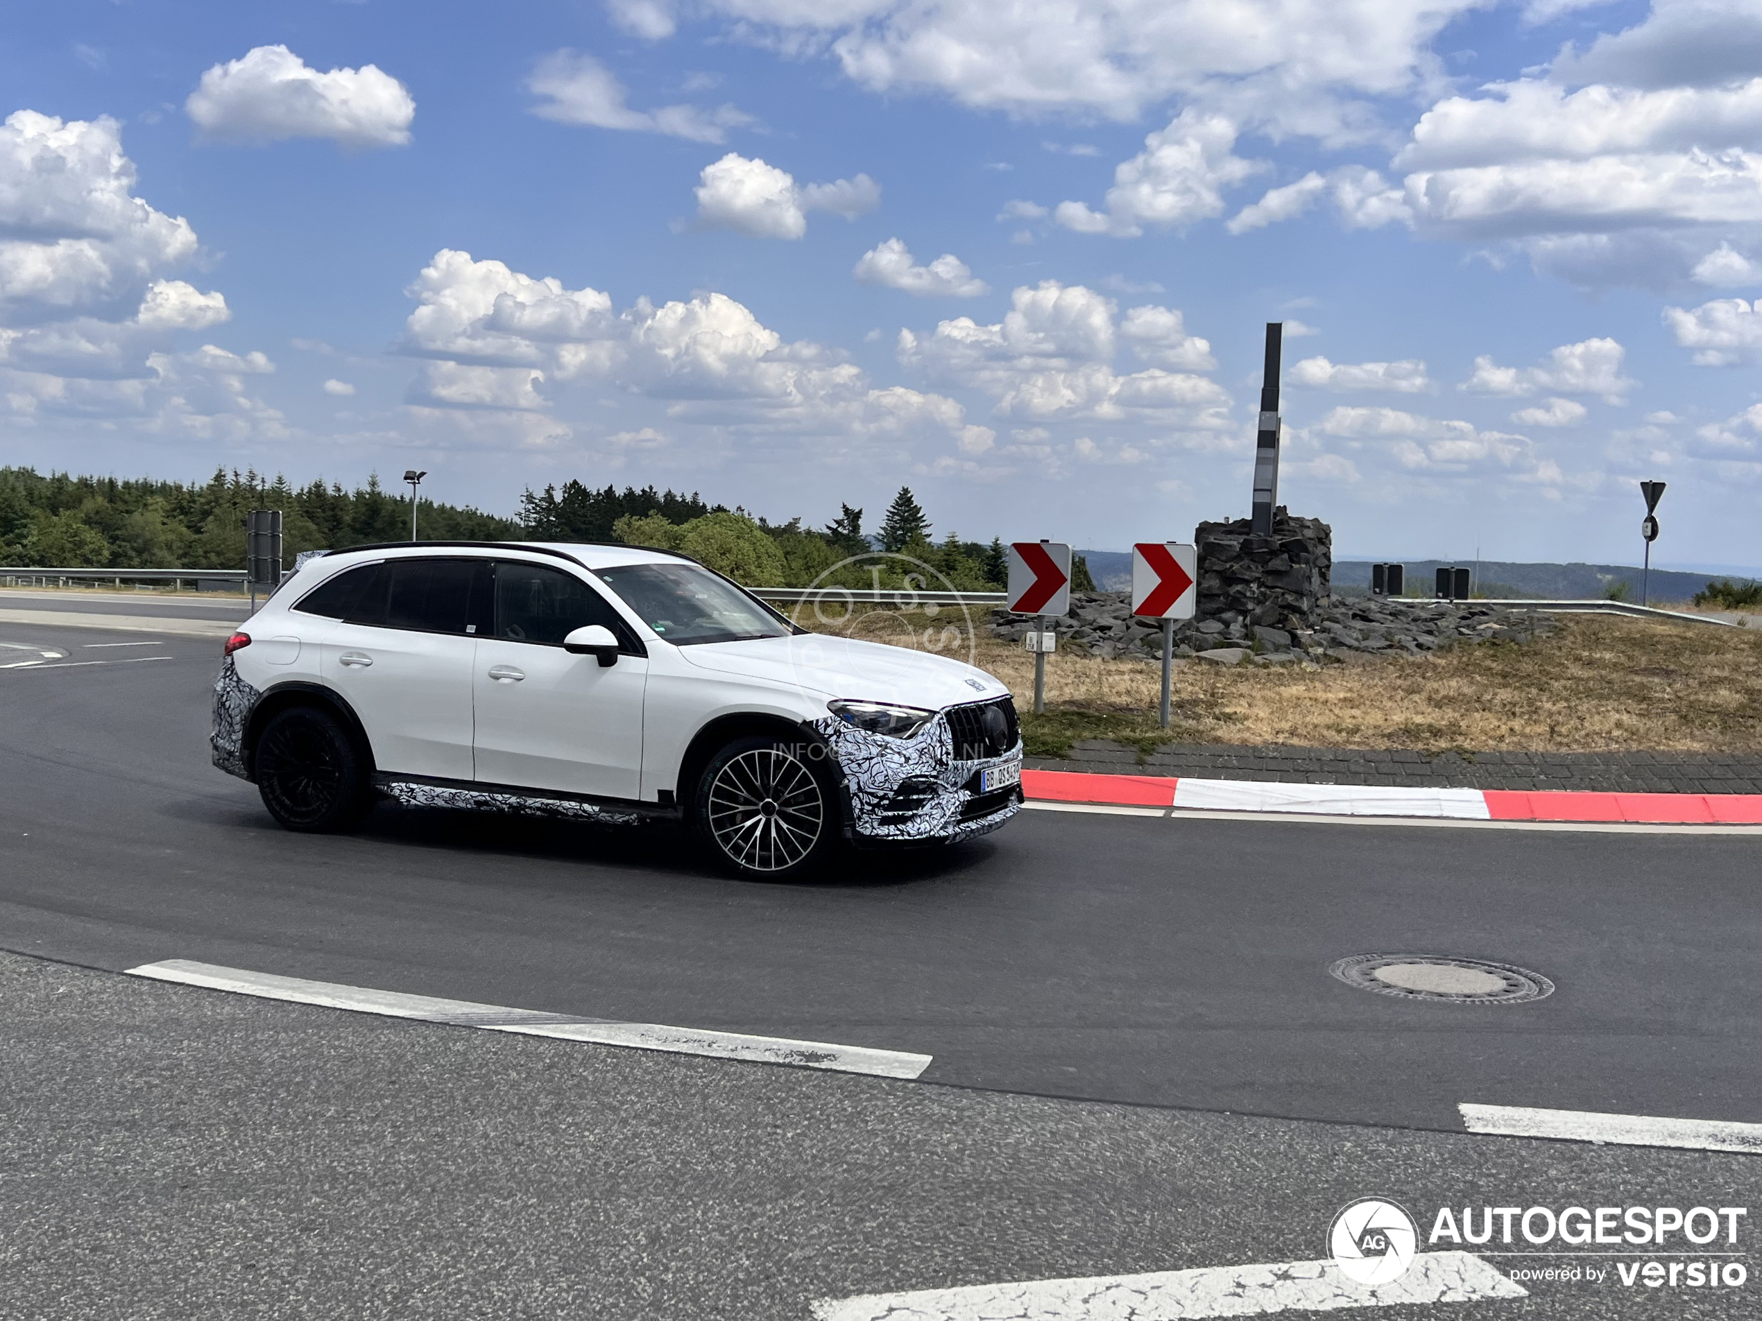
M 571 655 L 562 639 L 601 624 L 618 659 Z M 472 692 L 479 784 L 636 798 L 648 657 L 585 579 L 525 560 L 495 564 L 495 625 L 478 643 Z

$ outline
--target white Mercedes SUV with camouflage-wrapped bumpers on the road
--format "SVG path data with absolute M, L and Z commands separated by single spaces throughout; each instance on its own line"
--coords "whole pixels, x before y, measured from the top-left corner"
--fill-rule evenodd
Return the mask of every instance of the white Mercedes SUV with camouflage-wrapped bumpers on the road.
M 1008 690 L 828 638 L 671 551 L 402 542 L 308 560 L 226 645 L 215 764 L 289 830 L 402 803 L 684 819 L 784 877 L 1022 805 Z

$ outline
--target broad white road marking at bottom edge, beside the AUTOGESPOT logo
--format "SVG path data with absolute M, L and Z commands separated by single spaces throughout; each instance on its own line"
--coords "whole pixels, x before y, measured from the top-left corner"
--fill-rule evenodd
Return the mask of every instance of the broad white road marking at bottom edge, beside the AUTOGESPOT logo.
M 1366 1288 L 1332 1261 L 1274 1261 L 1147 1275 L 976 1284 L 964 1289 L 821 1298 L 816 1321 L 1188 1321 L 1332 1312 L 1341 1307 L 1471 1303 L 1529 1293 L 1471 1252 L 1420 1252 L 1390 1284 Z

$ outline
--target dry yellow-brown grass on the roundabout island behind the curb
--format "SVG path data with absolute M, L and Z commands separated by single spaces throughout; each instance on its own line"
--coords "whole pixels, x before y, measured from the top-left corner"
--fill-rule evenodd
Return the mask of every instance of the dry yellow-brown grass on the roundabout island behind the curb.
M 925 631 L 946 618 L 876 620 L 856 632 L 904 643 L 906 624 L 922 646 Z M 966 657 L 966 646 L 957 653 Z M 1033 655 L 981 636 L 974 660 L 1029 706 Z M 1029 749 L 1059 754 L 1077 738 L 1115 738 L 1144 749 L 1762 750 L 1762 632 L 1750 629 L 1565 616 L 1536 643 L 1482 643 L 1417 660 L 1320 669 L 1189 662 L 1173 675 L 1168 731 L 1156 724 L 1158 683 L 1158 668 L 1140 660 L 1047 657 L 1047 713 L 1024 715 Z

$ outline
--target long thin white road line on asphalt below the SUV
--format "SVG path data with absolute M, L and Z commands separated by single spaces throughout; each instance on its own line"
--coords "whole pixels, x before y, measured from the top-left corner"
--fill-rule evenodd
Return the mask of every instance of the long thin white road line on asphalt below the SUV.
M 675 1055 L 714 1055 L 717 1059 L 747 1060 L 749 1064 L 795 1064 L 805 1069 L 833 1073 L 867 1073 L 877 1078 L 916 1078 L 930 1067 L 929 1055 L 902 1050 L 874 1050 L 870 1046 L 832 1046 L 823 1041 L 788 1041 L 784 1037 L 758 1037 L 745 1032 L 710 1032 L 692 1027 L 666 1027 L 663 1023 L 620 1023 L 601 1018 L 553 1015 L 541 1009 L 507 1009 L 499 1004 L 472 1004 L 470 1000 L 439 1000 L 430 995 L 403 995 L 365 986 L 342 986 L 331 981 L 305 981 L 278 978 L 268 972 L 192 963 L 171 958 L 162 963 L 143 963 L 129 969 L 130 976 L 155 981 L 178 981 L 185 986 L 261 995 L 270 1000 L 319 1004 L 328 1009 L 384 1015 L 388 1018 L 419 1018 L 428 1023 L 453 1027 L 483 1027 L 492 1032 L 518 1032 L 560 1041 L 590 1041 L 601 1046 L 634 1046 L 663 1050 Z

